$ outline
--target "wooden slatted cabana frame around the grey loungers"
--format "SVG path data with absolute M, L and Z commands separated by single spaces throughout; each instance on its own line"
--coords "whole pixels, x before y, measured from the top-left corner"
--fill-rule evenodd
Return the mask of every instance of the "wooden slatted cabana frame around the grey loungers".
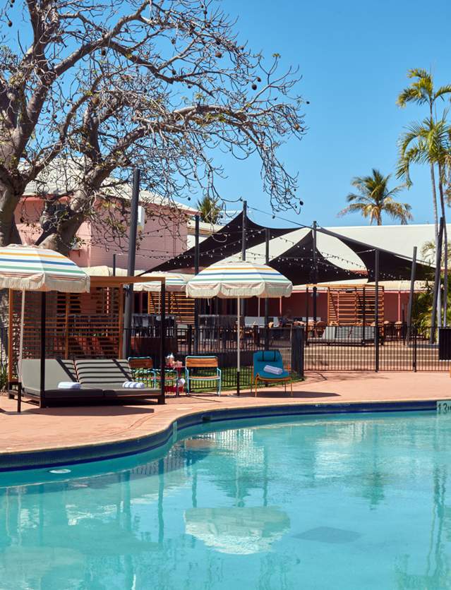
M 124 335 L 124 289 L 128 284 L 159 282 L 161 297 L 160 330 L 153 340 L 155 357 L 162 367 L 167 344 L 165 277 L 91 276 L 90 293 L 49 291 L 46 298 L 45 356 L 49 359 L 121 359 Z M 21 291 L 9 291 L 8 381 L 17 381 L 20 340 Z M 40 294 L 26 294 L 23 358 L 39 356 Z M 130 335 L 131 337 L 131 335 Z M 133 343 L 132 343 L 133 349 Z M 157 364 L 157 363 L 155 363 Z

